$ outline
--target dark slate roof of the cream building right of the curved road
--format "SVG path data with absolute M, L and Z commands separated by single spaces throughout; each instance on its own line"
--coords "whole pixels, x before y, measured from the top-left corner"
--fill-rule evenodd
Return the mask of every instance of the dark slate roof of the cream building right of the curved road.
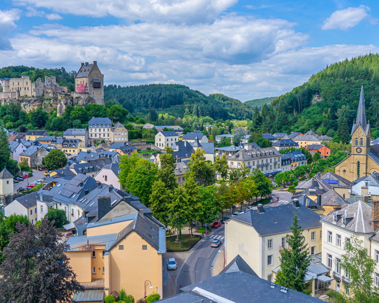
M 300 218 L 299 224 L 302 225 L 303 229 L 321 226 L 319 215 L 301 204 L 299 204 L 298 208 L 295 208 L 293 204 L 263 208 L 262 214 L 260 214 L 257 209 L 251 209 L 239 216 L 231 218 L 231 220 L 250 224 L 260 236 L 267 236 L 270 234 L 290 232 L 292 218 L 295 212 Z

